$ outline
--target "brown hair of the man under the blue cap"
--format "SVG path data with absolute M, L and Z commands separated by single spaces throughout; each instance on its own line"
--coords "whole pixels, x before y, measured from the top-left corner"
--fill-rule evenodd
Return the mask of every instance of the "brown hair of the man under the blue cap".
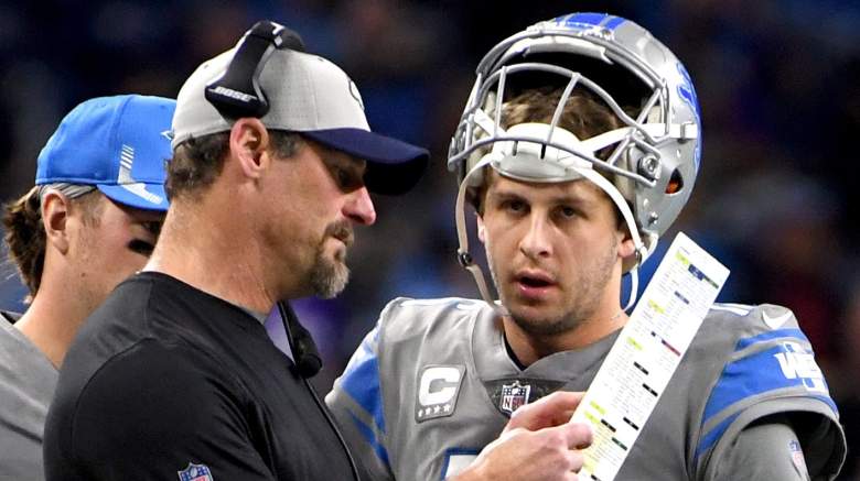
M 42 198 L 40 186 L 30 189 L 18 200 L 3 206 L 3 226 L 9 250 L 9 260 L 15 264 L 21 280 L 30 294 L 24 302 L 30 303 L 39 292 L 42 271 L 45 265 L 46 234 L 42 221 Z M 80 209 L 82 221 L 89 227 L 98 226 L 101 216 L 101 198 L 98 190 L 79 197 L 69 198 L 69 209 Z

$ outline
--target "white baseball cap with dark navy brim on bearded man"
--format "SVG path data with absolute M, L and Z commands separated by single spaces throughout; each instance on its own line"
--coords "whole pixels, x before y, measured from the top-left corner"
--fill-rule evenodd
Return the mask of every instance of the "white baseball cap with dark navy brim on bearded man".
M 236 48 L 203 63 L 176 97 L 173 147 L 192 136 L 230 130 L 208 100 L 206 85 L 224 74 Z M 427 166 L 427 150 L 370 131 L 355 83 L 338 66 L 318 55 L 276 50 L 259 75 L 269 101 L 260 117 L 275 130 L 302 134 L 325 146 L 367 161 L 365 185 L 378 194 L 404 194 L 415 186 Z

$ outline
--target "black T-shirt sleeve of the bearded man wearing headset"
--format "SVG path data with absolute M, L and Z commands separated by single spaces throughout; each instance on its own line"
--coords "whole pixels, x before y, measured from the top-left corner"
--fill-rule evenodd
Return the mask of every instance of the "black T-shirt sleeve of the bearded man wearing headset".
M 77 479 L 275 479 L 250 440 L 241 390 L 190 349 L 144 341 L 93 375 L 58 439 Z M 69 479 L 52 466 L 62 464 L 47 463 L 49 480 Z

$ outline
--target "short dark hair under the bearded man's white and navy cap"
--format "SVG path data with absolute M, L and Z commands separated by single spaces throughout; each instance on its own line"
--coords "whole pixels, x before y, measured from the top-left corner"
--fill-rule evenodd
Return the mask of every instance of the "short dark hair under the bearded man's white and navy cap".
M 224 160 L 229 151 L 229 132 L 218 132 L 189 138 L 173 151 L 168 163 L 164 189 L 168 198 L 196 198 L 204 193 L 224 171 Z M 269 130 L 270 152 L 279 158 L 295 155 L 302 136 L 284 130 Z

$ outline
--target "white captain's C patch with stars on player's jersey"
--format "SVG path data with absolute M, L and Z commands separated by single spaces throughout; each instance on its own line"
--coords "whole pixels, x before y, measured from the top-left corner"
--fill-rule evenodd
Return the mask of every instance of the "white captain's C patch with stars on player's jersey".
M 416 420 L 419 423 L 454 413 L 463 365 L 431 365 L 423 369 L 418 382 Z

